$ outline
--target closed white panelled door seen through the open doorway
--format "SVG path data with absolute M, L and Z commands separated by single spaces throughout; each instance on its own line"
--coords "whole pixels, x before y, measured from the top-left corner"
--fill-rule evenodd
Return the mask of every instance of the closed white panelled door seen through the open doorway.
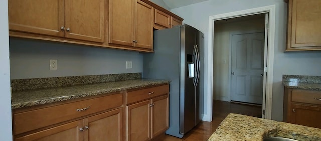
M 231 100 L 262 104 L 264 32 L 232 35 Z

